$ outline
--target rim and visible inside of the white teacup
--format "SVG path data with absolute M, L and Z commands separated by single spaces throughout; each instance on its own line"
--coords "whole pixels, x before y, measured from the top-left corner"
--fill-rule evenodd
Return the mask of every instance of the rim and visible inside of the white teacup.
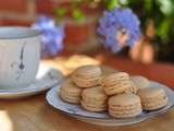
M 0 39 L 29 38 L 40 34 L 40 31 L 27 26 L 0 26 Z

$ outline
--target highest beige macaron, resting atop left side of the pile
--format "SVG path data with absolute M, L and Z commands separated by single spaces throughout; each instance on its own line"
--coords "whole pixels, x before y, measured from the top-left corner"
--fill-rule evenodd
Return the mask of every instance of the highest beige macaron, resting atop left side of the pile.
M 72 80 L 79 87 L 92 87 L 99 84 L 101 74 L 99 66 L 83 66 L 73 72 Z

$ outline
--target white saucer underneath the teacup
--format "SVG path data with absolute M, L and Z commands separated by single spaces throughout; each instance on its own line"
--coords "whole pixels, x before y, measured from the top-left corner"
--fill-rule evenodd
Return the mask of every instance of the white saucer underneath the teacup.
M 26 87 L 3 88 L 0 87 L 0 98 L 21 98 L 47 91 L 53 86 L 60 86 L 63 79 L 59 70 L 46 64 L 40 64 L 36 80 Z

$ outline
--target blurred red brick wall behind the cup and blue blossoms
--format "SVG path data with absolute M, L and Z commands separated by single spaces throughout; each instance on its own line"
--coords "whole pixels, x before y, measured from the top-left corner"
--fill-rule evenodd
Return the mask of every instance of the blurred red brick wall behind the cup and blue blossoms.
M 29 26 L 39 14 L 52 16 L 54 8 L 69 5 L 70 0 L 0 0 L 0 25 Z M 76 24 L 69 16 L 65 17 L 65 43 L 82 44 L 94 35 L 97 19 L 101 10 L 90 10 L 86 7 L 83 10 L 86 12 L 87 17 L 80 24 Z

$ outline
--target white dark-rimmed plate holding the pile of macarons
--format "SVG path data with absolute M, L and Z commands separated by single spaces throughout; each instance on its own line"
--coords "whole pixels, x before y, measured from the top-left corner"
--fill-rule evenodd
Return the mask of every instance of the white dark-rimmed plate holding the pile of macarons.
M 47 102 L 54 107 L 55 109 L 70 115 L 74 118 L 77 118 L 82 121 L 94 123 L 94 124 L 102 124 L 102 126 L 127 126 L 133 123 L 138 123 L 144 121 L 148 118 L 154 117 L 157 115 L 166 112 L 171 109 L 174 105 L 174 92 L 165 85 L 162 85 L 157 82 L 151 82 L 151 87 L 162 87 L 165 90 L 169 96 L 169 104 L 159 110 L 154 111 L 142 111 L 141 115 L 134 118 L 126 118 L 126 119 L 114 119 L 108 115 L 108 112 L 90 112 L 83 109 L 79 105 L 73 105 L 63 102 L 59 96 L 59 88 L 53 87 L 51 88 L 46 96 Z

